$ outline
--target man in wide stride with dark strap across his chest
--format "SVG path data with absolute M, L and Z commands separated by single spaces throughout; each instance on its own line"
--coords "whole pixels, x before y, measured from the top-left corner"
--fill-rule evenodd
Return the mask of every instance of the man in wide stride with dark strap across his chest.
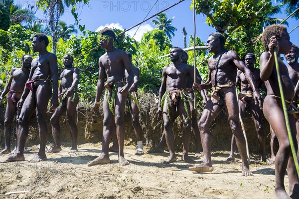
M 224 48 L 225 38 L 219 32 L 210 34 L 207 40 L 207 49 L 214 55 L 208 60 L 209 79 L 204 84 L 195 84 L 194 87 L 207 89 L 213 87 L 211 99 L 207 102 L 198 122 L 198 128 L 201 136 L 201 144 L 203 148 L 203 163 L 190 167 L 190 170 L 196 172 L 212 172 L 211 161 L 211 134 L 209 131 L 211 122 L 219 115 L 221 110 L 225 108 L 228 114 L 228 120 L 233 134 L 236 136 L 236 143 L 242 159 L 242 175 L 253 175 L 249 171 L 249 165 L 246 156 L 245 138 L 242 133 L 239 107 L 236 96 L 236 76 L 237 68 L 239 68 L 247 78 L 247 81 L 253 88 L 253 96 L 255 103 L 260 101 L 261 96 L 255 85 L 254 76 L 245 66 L 244 62 L 239 58 L 238 54 L 233 50 Z

